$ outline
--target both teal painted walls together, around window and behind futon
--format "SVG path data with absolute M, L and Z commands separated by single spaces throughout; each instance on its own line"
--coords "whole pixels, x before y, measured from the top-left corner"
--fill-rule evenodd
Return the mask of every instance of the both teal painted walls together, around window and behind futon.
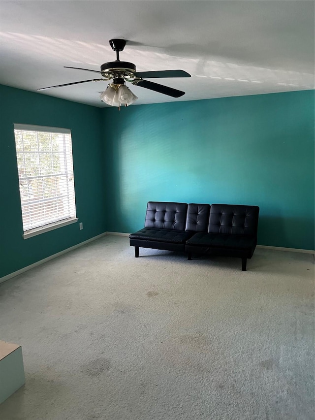
M 149 200 L 260 206 L 258 243 L 314 249 L 314 91 L 96 108 L 0 85 L 0 277 Z M 23 239 L 13 124 L 71 129 L 78 223 Z

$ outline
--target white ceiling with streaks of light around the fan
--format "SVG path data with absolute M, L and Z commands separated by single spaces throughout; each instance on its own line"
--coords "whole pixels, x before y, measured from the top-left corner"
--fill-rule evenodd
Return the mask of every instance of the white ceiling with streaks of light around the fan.
M 98 78 L 115 61 L 111 38 L 127 40 L 122 61 L 137 71 L 183 69 L 191 78 L 152 79 L 186 92 L 139 86 L 136 104 L 314 89 L 314 1 L 0 1 L 0 83 L 36 89 Z M 89 82 L 42 92 L 105 106 Z

